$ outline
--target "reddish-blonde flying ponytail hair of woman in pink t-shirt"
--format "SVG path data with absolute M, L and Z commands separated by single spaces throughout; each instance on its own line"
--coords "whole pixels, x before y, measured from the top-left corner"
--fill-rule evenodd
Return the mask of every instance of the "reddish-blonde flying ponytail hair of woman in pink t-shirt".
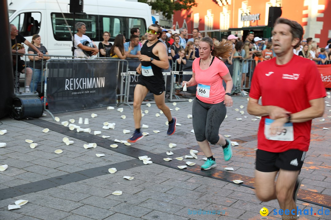
M 202 42 L 206 42 L 210 45 L 210 48 L 214 47 L 212 55 L 220 59 L 227 59 L 233 51 L 233 46 L 231 41 L 221 41 L 217 46 L 214 46 L 213 39 L 211 37 L 203 37 L 200 39 Z

